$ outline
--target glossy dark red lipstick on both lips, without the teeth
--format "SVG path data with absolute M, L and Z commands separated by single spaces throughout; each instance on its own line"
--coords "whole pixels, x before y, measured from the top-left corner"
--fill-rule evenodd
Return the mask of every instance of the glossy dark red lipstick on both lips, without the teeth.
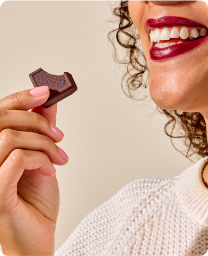
M 154 28 L 165 28 L 176 25 L 182 25 L 185 27 L 206 28 L 206 26 L 201 23 L 177 16 L 163 16 L 158 19 L 149 19 L 145 22 L 145 28 L 148 32 L 151 32 L 151 30 Z M 208 36 L 197 40 L 195 39 L 193 41 L 182 42 L 180 44 L 172 45 L 166 48 L 155 47 L 155 43 L 153 42 L 152 47 L 150 48 L 150 58 L 153 61 L 162 61 L 163 59 L 184 54 L 186 52 L 189 52 L 189 50 L 200 46 L 202 42 L 204 42 L 207 38 Z

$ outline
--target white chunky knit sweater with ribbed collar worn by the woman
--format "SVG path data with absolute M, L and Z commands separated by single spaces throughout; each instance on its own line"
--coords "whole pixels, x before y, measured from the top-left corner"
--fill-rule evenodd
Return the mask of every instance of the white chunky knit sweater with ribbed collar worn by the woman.
M 86 216 L 55 256 L 201 256 L 208 250 L 208 157 L 174 178 L 143 178 Z

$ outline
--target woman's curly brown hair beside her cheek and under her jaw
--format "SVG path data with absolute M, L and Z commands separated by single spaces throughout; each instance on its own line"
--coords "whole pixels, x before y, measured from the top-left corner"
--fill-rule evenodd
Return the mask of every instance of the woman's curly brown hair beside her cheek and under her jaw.
M 119 26 L 108 33 L 108 39 L 113 46 L 115 61 L 126 65 L 122 89 L 127 97 L 142 100 L 145 98 L 144 89 L 149 85 L 149 67 L 140 36 L 129 15 L 128 0 L 119 0 L 119 6 L 116 7 L 112 5 L 112 12 L 116 21 L 111 20 L 111 22 L 119 22 Z M 116 44 L 125 49 L 125 56 L 122 59 L 118 57 Z M 192 156 L 208 156 L 206 124 L 202 114 L 167 110 L 159 106 L 157 106 L 157 110 L 168 118 L 164 131 L 170 136 L 173 146 L 175 147 L 172 139 L 183 140 L 186 150 L 184 153 L 175 147 L 179 152 L 189 159 Z

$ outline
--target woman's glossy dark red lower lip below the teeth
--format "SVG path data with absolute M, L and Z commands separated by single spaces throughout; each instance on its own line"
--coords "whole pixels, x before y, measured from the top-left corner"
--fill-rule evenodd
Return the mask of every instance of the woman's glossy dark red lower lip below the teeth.
M 208 36 L 194 41 L 181 42 L 180 44 L 172 45 L 166 48 L 158 48 L 152 46 L 150 48 L 150 58 L 152 59 L 152 61 L 163 61 L 163 59 L 172 58 L 180 54 L 184 54 L 186 52 L 189 52 L 189 50 L 193 50 L 197 46 L 200 46 L 202 42 L 204 42 L 207 38 Z

